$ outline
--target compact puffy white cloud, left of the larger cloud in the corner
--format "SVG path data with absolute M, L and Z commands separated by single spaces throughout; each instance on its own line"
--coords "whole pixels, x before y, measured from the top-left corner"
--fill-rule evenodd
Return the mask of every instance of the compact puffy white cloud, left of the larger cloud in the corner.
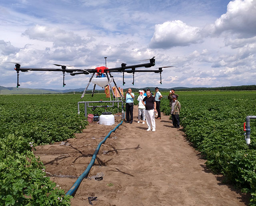
M 200 28 L 188 26 L 180 20 L 156 24 L 151 48 L 187 46 L 201 41 Z

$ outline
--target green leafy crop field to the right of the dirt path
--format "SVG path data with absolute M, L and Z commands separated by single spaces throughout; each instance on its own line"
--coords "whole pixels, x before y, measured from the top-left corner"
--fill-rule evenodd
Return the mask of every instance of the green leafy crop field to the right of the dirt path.
M 251 120 L 251 145 L 244 139 L 247 115 L 256 115 L 256 92 L 177 92 L 180 120 L 207 166 L 220 172 L 242 192 L 251 194 L 256 205 L 256 120 Z M 168 100 L 161 101 L 170 114 Z

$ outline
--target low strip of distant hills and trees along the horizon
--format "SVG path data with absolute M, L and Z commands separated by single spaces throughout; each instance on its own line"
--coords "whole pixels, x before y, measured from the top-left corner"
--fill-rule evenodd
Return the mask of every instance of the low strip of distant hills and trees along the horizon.
M 130 88 L 130 87 L 129 87 Z M 145 87 L 145 88 L 131 88 L 133 92 L 138 92 L 141 89 L 148 89 L 154 92 L 154 87 Z M 128 88 L 124 88 L 124 92 Z M 256 90 L 256 85 L 242 85 L 242 86 L 222 86 L 222 87 L 172 87 L 172 88 L 160 88 L 160 91 L 170 91 L 174 89 L 175 91 L 199 91 L 199 90 Z M 4 87 L 0 86 L 0 94 L 59 94 L 59 93 L 82 93 L 84 88 L 77 89 L 30 89 L 30 88 L 16 88 L 16 87 Z M 95 93 L 104 92 L 104 89 L 96 90 Z M 86 93 L 92 93 L 92 90 L 88 89 Z

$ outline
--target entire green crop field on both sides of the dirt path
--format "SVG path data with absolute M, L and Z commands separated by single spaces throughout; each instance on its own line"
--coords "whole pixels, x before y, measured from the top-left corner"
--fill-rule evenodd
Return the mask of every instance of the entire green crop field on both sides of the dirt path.
M 242 129 L 246 115 L 256 115 L 256 92 L 177 93 L 180 95 L 178 100 L 182 104 L 181 124 L 188 139 L 207 158 L 206 164 L 210 169 L 224 174 L 226 182 L 232 182 L 238 188 L 242 188 L 243 192 L 250 193 L 252 204 L 255 204 L 256 153 L 254 152 L 253 137 L 256 134 L 254 129 L 256 124 L 253 120 L 251 121 L 252 146 L 250 149 L 245 143 Z M 163 92 L 162 95 L 167 95 L 167 93 L 164 94 Z M 86 95 L 82 101 L 89 100 L 88 96 Z M 101 96 L 95 95 L 94 98 L 90 97 L 90 100 L 99 100 L 99 98 L 104 100 L 102 94 Z M 22 205 L 28 204 L 27 202 L 30 201 L 32 204 L 39 204 L 36 201 L 47 199 L 52 201 L 49 202 L 49 205 L 69 204 L 69 198 L 64 196 L 64 191 L 50 182 L 48 177 L 42 178 L 46 176 L 44 166 L 38 163 L 30 149 L 32 144 L 34 147 L 39 144 L 65 141 L 74 137 L 73 133 L 81 132 L 86 127 L 87 122 L 84 121 L 82 109 L 80 116 L 77 115 L 78 101 L 81 101 L 80 94 L 0 96 L 0 123 L 3 125 L 0 129 L 2 147 L 0 157 L 1 161 L 4 162 L 0 168 L 0 181 L 3 180 L 1 182 L 1 194 L 9 195 L 8 197 L 2 195 L 1 203 L 10 202 L 9 205 Z M 99 110 L 96 109 L 97 113 L 100 113 Z M 103 110 L 104 108 L 102 108 Z M 108 111 L 111 110 L 112 108 L 108 108 Z M 161 110 L 169 114 L 168 100 L 162 100 Z M 113 112 L 117 112 L 117 108 L 114 108 Z M 134 116 L 136 116 L 135 113 Z M 109 145 L 109 147 L 111 146 Z M 110 149 L 108 148 L 108 150 Z M 26 157 L 33 161 L 28 161 Z M 20 159 L 18 162 L 6 161 L 6 159 L 14 160 L 16 158 L 21 158 L 23 162 L 20 163 Z M 148 159 L 148 161 L 150 160 Z M 14 174 L 13 170 L 16 170 L 20 165 L 31 165 L 31 167 L 25 166 L 30 171 L 23 169 L 25 173 L 19 171 L 19 173 Z M 32 176 L 34 171 L 37 171 L 36 182 L 38 184 L 32 188 L 31 185 L 27 185 L 30 183 L 25 182 L 31 182 L 28 174 Z M 4 176 L 4 173 L 13 173 L 13 179 L 11 180 L 9 175 Z M 16 181 L 17 178 L 19 181 Z M 9 186 L 6 186 L 6 181 L 8 181 Z M 44 188 L 46 184 L 52 185 L 49 186 L 50 189 Z M 29 186 L 30 190 L 28 189 Z M 36 199 L 39 194 L 34 194 L 35 188 L 40 188 L 41 194 L 46 193 L 47 195 L 40 197 L 40 200 Z M 54 192 L 51 193 L 50 191 Z M 25 193 L 31 198 L 22 198 Z M 62 202 L 58 200 L 60 196 L 63 198 Z

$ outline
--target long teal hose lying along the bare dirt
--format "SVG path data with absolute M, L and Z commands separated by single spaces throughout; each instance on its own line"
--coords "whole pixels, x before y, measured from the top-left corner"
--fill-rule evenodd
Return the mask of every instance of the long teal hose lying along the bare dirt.
M 78 179 L 76 180 L 76 182 L 73 184 L 73 186 L 70 188 L 70 190 L 68 190 L 68 192 L 66 193 L 66 195 L 73 195 L 74 192 L 76 192 L 76 190 L 78 189 L 80 183 L 82 182 L 82 180 L 86 177 L 86 175 L 88 175 L 88 173 L 90 172 L 90 169 L 92 168 L 96 156 L 98 155 L 98 152 L 100 150 L 100 146 L 106 141 L 106 139 L 110 136 L 110 134 L 113 131 L 116 131 L 116 129 L 123 123 L 123 120 L 112 130 L 110 130 L 110 132 L 106 135 L 106 137 L 104 139 L 102 139 L 102 141 L 100 141 L 100 143 L 98 144 L 95 152 L 92 155 L 92 159 L 89 163 L 89 165 L 87 166 L 86 170 L 82 173 L 82 175 L 80 175 L 80 177 L 78 177 Z

